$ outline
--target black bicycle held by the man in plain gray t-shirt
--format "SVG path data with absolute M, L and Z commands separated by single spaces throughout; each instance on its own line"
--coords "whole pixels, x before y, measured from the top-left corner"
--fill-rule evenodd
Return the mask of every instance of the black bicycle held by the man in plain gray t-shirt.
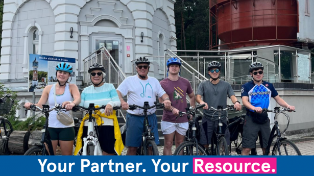
M 218 106 L 217 109 L 210 107 L 210 111 L 214 113 L 219 112 L 218 114 L 218 127 L 217 130 L 214 130 L 214 134 L 211 137 L 211 146 L 210 152 L 211 155 L 230 155 L 227 140 L 225 138 L 225 130 L 229 130 L 228 127 L 224 126 L 222 123 L 221 112 L 234 110 L 233 105 L 227 105 L 227 108 L 223 109 L 223 106 Z M 213 113 L 213 114 L 214 114 Z M 224 129 L 223 129 L 224 128 Z

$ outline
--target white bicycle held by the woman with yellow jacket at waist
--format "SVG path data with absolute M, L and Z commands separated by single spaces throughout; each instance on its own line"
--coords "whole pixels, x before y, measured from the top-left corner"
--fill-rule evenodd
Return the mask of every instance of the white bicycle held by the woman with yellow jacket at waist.
M 95 128 L 97 125 L 96 121 L 95 121 L 95 117 L 92 116 L 93 111 L 97 111 L 97 110 L 101 110 L 101 109 L 105 109 L 106 106 L 103 105 L 99 108 L 95 108 L 95 104 L 91 103 L 89 104 L 88 108 L 85 108 L 83 106 L 75 106 L 73 107 L 73 111 L 85 111 L 88 113 L 88 131 L 87 131 L 87 137 L 83 138 L 83 152 L 80 153 L 83 156 L 94 156 L 94 155 L 103 155 L 102 149 L 100 147 L 100 143 L 98 141 L 98 137 L 99 137 L 99 133 L 98 133 L 98 129 Z M 120 109 L 119 107 L 114 107 L 114 110 L 118 110 Z M 86 113 L 86 114 L 87 114 Z M 94 125 L 95 124 L 95 125 Z

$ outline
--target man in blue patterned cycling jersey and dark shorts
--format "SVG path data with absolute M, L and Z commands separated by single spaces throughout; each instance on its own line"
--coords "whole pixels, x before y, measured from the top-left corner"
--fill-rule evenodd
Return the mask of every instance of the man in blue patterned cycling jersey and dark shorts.
M 273 84 L 263 81 L 263 65 L 260 62 L 254 62 L 249 66 L 252 81 L 244 84 L 241 88 L 241 98 L 243 105 L 246 107 L 247 115 L 243 127 L 243 149 L 241 155 L 249 155 L 251 148 L 255 148 L 257 135 L 260 132 L 259 139 L 263 154 L 268 145 L 271 134 L 270 119 L 267 113 L 262 109 L 269 109 L 271 97 L 285 108 L 295 110 L 294 106 L 288 105 L 282 98 Z

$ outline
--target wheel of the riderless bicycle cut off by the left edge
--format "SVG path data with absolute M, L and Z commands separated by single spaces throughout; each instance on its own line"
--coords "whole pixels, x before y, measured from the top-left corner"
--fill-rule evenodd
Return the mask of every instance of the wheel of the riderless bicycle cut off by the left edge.
M 6 126 L 7 135 L 4 131 L 4 125 Z M 9 137 L 13 132 L 12 124 L 9 120 L 5 119 L 4 123 L 0 124 L 0 155 L 10 155 L 9 150 Z

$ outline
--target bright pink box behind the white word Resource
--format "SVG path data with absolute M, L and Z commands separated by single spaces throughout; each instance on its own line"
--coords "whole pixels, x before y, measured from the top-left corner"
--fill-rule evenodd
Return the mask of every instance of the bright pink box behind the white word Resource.
M 277 173 L 277 158 L 193 158 L 193 173 Z

